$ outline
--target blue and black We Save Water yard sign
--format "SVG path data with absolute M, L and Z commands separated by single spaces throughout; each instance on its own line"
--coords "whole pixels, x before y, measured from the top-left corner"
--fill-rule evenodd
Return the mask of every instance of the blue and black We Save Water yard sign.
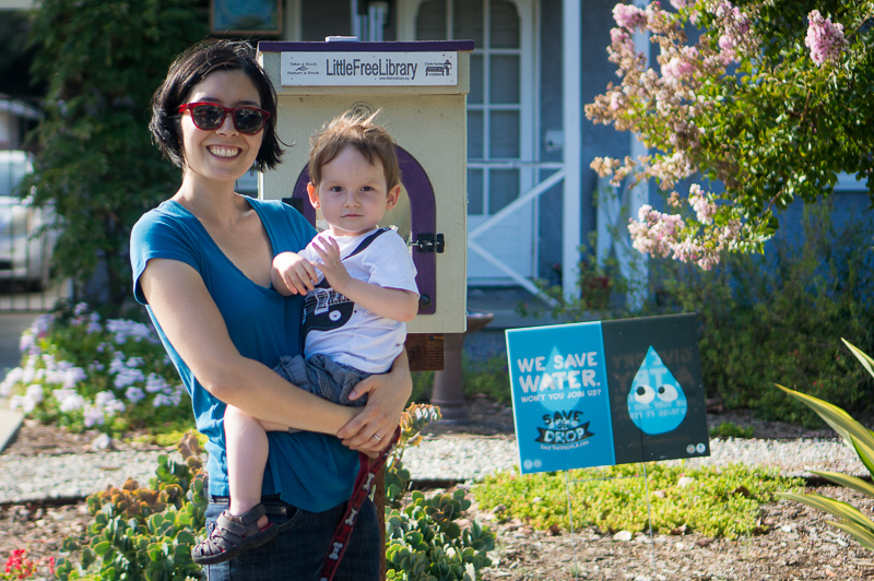
M 694 315 L 508 329 L 523 474 L 710 454 Z

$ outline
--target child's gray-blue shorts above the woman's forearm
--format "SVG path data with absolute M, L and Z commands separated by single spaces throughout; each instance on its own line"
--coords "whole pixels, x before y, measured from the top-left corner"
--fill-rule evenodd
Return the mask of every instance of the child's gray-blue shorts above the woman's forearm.
M 349 394 L 359 381 L 373 375 L 339 364 L 327 355 L 319 354 L 309 359 L 304 359 L 303 355 L 283 356 L 273 370 L 304 391 L 329 402 L 355 407 L 366 404 L 367 395 L 352 401 L 349 399 Z

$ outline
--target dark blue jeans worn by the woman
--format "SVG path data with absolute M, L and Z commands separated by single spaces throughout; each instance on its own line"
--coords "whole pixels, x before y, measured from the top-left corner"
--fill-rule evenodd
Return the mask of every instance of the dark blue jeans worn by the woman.
M 204 567 L 209 581 L 318 581 L 345 503 L 324 512 L 308 512 L 276 497 L 262 499 L 268 518 L 279 526 L 276 537 L 238 557 Z M 206 534 L 227 509 L 226 498 L 213 498 L 206 508 Z M 385 550 L 376 507 L 366 499 L 335 581 L 377 581 L 379 555 Z

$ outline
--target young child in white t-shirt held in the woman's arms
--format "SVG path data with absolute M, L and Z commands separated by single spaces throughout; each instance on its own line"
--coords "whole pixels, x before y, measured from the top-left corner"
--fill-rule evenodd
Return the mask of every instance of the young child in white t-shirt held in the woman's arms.
M 350 392 L 366 377 L 388 371 L 403 349 L 405 321 L 418 310 L 406 242 L 390 228 L 377 228 L 398 202 L 401 180 L 394 143 L 374 117 L 346 112 L 312 138 L 307 192 L 329 227 L 299 254 L 273 259 L 273 287 L 285 296 L 307 294 L 304 356 L 282 357 L 275 371 L 344 405 L 366 403 L 366 396 L 351 401 Z M 267 431 L 290 427 L 232 406 L 224 419 L 231 506 L 192 550 L 202 565 L 228 560 L 276 535 L 261 506 Z

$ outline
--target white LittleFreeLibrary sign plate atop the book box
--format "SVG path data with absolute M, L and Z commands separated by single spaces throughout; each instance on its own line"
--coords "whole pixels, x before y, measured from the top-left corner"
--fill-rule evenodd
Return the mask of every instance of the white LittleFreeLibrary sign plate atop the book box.
M 282 52 L 282 86 L 456 86 L 458 52 Z

